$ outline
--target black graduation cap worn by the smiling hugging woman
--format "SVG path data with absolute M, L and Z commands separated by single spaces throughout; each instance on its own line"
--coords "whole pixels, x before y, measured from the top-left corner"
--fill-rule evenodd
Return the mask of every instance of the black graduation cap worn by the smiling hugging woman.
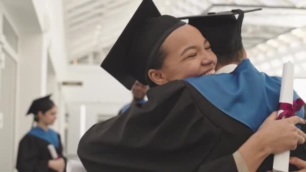
M 173 16 L 162 16 L 151 0 L 143 0 L 101 67 L 129 90 L 136 80 L 147 85 L 147 71 L 160 46 L 185 24 Z

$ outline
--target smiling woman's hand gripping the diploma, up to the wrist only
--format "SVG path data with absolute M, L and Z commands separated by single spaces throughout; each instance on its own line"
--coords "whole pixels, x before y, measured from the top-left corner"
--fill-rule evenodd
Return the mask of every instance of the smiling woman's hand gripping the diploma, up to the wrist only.
M 297 144 L 305 142 L 306 134 L 295 126 L 295 124 L 305 124 L 303 119 L 298 116 L 281 120 L 276 118 L 277 112 L 273 112 L 256 132 L 268 152 L 276 154 L 294 150 Z

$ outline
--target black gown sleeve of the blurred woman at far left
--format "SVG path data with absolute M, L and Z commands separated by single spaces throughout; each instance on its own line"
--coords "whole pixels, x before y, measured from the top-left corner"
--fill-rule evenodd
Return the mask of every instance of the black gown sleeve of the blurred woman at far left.
M 19 172 L 48 172 L 48 160 L 39 159 L 39 150 L 28 135 L 19 143 L 16 168 Z

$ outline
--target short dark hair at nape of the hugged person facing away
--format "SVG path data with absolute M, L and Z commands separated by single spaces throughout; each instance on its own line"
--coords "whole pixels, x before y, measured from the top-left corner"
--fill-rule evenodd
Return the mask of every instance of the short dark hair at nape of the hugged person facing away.
M 218 63 L 221 65 L 231 64 L 233 62 L 240 63 L 244 59 L 244 48 L 235 51 L 233 53 L 215 53 L 218 59 Z

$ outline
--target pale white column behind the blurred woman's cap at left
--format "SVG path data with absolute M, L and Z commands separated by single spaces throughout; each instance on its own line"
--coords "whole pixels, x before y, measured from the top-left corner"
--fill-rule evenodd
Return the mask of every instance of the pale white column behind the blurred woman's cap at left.
M 16 141 L 29 131 L 33 117 L 26 113 L 33 99 L 42 96 L 43 88 L 43 35 L 24 34 L 20 39 L 19 113 L 16 123 Z

